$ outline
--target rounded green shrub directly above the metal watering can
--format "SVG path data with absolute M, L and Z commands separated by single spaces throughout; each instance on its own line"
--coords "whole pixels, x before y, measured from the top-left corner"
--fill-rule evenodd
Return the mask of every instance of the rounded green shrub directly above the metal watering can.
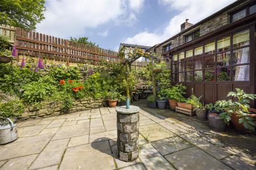
M 0 118 L 17 118 L 24 112 L 24 105 L 16 96 L 0 92 Z

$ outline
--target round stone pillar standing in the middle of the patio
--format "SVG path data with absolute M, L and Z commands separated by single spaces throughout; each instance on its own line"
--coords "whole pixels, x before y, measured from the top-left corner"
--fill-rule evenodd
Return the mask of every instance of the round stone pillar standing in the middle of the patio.
M 139 152 L 139 107 L 130 105 L 117 107 L 117 148 L 118 158 L 131 162 L 138 158 Z

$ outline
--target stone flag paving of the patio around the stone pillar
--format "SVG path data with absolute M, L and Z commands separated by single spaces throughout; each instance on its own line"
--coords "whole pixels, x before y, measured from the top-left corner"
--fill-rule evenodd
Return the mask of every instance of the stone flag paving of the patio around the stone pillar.
M 255 169 L 255 154 L 222 143 L 207 126 L 177 115 L 142 107 L 139 158 L 130 163 L 117 159 L 114 108 L 20 121 L 19 139 L 0 146 L 0 169 Z M 238 135 L 245 145 L 256 146 L 255 136 Z

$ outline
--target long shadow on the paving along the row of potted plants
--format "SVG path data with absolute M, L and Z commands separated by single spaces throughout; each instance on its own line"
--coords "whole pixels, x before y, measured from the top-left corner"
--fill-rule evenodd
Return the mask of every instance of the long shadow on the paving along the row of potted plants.
M 153 116 L 154 114 L 160 114 L 166 118 L 173 118 L 174 121 L 177 120 L 177 123 L 183 126 L 191 126 L 189 128 L 200 131 L 200 134 L 204 135 L 204 137 L 209 139 L 209 141 L 216 141 L 214 144 L 218 145 L 218 143 L 222 143 L 228 147 L 227 149 L 232 148 L 232 154 L 239 155 L 242 151 L 245 154 L 252 155 L 252 157 L 255 155 L 255 133 L 243 134 L 240 131 L 234 129 L 232 125 L 229 125 L 225 132 L 213 131 L 209 128 L 208 121 L 197 120 L 196 116 L 190 117 L 186 114 L 176 113 L 171 109 L 147 108 L 147 100 L 134 101 L 132 105 L 137 105 L 143 109 L 143 111 L 151 113 Z M 225 150 L 226 147 L 223 149 Z

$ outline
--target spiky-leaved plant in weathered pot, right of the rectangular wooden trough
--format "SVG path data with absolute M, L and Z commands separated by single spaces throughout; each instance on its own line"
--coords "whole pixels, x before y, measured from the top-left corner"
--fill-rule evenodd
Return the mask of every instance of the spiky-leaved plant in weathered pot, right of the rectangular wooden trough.
M 192 89 L 193 91 L 193 89 Z M 187 99 L 187 103 L 191 104 L 194 108 L 193 111 L 196 111 L 196 118 L 199 120 L 207 120 L 207 109 L 204 105 L 200 102 L 202 96 L 196 97 L 193 93 Z

